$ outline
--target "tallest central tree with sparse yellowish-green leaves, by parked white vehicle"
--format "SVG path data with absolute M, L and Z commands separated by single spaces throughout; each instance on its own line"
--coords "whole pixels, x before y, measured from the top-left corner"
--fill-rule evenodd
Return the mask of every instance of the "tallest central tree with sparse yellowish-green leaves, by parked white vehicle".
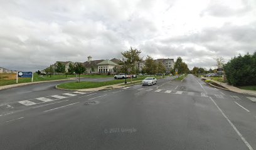
M 142 61 L 142 58 L 139 56 L 141 50 L 131 47 L 129 51 L 122 52 L 121 54 L 123 56 L 123 59 L 119 63 L 121 70 L 125 71 L 127 68 L 131 68 L 131 74 L 136 73 L 136 63 Z M 127 61 L 124 61 L 124 58 L 126 58 Z

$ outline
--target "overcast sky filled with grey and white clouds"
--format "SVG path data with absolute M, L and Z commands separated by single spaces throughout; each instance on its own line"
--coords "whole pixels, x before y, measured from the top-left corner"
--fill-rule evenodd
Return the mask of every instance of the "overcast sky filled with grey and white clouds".
M 181 56 L 211 68 L 256 49 L 255 0 L 0 0 L 0 67 L 36 71 L 56 61 Z

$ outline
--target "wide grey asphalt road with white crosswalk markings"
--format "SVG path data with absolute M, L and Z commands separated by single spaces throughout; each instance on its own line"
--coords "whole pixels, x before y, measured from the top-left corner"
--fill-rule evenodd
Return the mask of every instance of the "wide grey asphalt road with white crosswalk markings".
M 253 96 L 211 88 L 190 74 L 182 82 L 92 93 L 53 86 L 1 91 L 0 149 L 256 150 Z

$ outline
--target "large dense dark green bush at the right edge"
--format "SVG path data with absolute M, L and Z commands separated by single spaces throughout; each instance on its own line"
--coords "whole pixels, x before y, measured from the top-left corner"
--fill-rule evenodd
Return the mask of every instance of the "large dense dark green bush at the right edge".
M 224 71 L 228 83 L 234 86 L 256 85 L 256 52 L 231 59 Z

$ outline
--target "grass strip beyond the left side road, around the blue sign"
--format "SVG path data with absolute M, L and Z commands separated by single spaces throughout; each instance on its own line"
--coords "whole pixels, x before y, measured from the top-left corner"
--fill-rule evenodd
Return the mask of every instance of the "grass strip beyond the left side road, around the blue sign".
M 50 77 L 49 76 L 38 76 L 38 74 L 34 73 L 34 78 L 33 78 L 33 82 L 37 82 L 37 81 L 51 81 L 51 80 L 58 80 L 58 79 L 68 79 L 68 78 L 75 78 L 75 75 L 52 75 Z M 81 75 L 80 77 L 85 77 L 85 78 L 107 78 L 107 77 L 113 77 L 113 75 L 107 76 L 107 75 Z M 31 82 L 31 78 L 19 78 L 18 83 L 30 83 Z M 1 79 L 0 80 L 0 86 L 6 86 L 6 85 L 10 85 L 10 84 L 16 84 L 16 79 L 13 80 L 5 80 L 5 79 Z

